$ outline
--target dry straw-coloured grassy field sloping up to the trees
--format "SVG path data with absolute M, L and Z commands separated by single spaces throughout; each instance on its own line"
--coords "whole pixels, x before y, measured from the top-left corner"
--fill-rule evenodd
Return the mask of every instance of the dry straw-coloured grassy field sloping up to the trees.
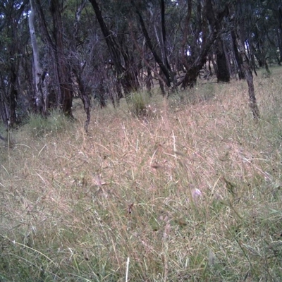
M 0 281 L 282 281 L 282 69 L 32 117 L 0 147 Z

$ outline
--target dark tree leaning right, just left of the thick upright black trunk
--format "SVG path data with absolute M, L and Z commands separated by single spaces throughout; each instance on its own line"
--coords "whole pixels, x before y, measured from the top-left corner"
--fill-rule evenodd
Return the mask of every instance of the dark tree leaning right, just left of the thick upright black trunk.
M 186 73 L 181 86 L 193 87 L 200 70 L 207 61 L 209 51 L 217 40 L 222 49 L 221 22 L 228 17 L 228 1 L 187 1 L 187 16 L 181 44 L 181 55 Z M 218 51 L 219 54 L 219 51 Z

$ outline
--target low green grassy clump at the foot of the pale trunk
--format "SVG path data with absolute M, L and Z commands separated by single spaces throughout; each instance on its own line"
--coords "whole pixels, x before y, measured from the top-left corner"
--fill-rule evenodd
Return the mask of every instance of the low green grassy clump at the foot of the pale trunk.
M 69 118 L 61 114 L 60 111 L 52 111 L 47 117 L 30 114 L 27 126 L 33 137 L 42 137 L 44 135 L 56 135 L 67 130 L 71 121 Z

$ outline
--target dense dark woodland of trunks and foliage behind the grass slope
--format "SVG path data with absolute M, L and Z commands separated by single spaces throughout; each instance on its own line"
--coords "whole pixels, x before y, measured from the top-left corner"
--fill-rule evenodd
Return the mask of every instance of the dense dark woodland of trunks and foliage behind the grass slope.
M 168 96 L 195 86 L 246 79 L 259 118 L 252 73 L 282 60 L 281 0 L 3 0 L 0 4 L 0 116 L 13 128 L 30 114 L 73 99 L 90 123 L 133 92 Z

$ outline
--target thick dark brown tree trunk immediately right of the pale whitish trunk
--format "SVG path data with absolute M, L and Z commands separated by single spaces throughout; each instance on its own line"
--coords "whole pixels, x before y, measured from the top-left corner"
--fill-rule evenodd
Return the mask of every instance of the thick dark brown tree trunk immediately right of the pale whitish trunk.
M 63 22 L 61 11 L 63 11 L 63 1 L 51 0 L 42 2 L 34 1 L 34 8 L 37 16 L 37 23 L 44 42 L 44 52 L 51 76 L 54 93 L 54 102 L 66 116 L 73 116 L 72 102 L 73 89 L 71 84 L 71 71 L 68 67 L 66 53 L 63 42 Z M 48 18 L 47 18 L 48 17 Z

